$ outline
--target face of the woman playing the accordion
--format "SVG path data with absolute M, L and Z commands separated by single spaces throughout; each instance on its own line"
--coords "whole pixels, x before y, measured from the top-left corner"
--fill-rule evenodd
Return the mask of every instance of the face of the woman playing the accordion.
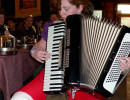
M 61 10 L 60 10 L 60 15 L 63 18 L 63 20 L 66 20 L 66 17 L 68 15 L 73 15 L 73 14 L 81 14 L 81 11 L 83 10 L 83 6 L 80 5 L 78 8 L 70 4 L 68 0 L 61 0 Z

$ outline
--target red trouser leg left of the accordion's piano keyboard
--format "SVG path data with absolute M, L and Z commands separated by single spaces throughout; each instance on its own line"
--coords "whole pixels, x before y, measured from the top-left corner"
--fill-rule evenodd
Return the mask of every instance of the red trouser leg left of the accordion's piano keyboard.
M 35 79 L 33 79 L 19 91 L 29 94 L 34 100 L 45 100 L 46 94 L 43 92 L 43 76 L 44 70 L 42 70 Z

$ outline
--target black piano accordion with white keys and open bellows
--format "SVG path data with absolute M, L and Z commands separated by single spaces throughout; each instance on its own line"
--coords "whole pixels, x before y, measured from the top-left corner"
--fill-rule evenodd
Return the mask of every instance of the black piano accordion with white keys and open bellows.
M 66 23 L 49 26 L 43 91 L 60 92 L 79 86 L 110 97 L 125 75 L 118 57 L 130 52 L 130 29 L 89 16 L 70 15 Z

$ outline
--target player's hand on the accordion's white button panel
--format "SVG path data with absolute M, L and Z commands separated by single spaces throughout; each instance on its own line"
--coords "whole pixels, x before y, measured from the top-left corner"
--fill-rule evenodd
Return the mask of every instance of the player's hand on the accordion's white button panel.
M 122 73 L 125 74 L 130 69 L 130 57 L 119 57 L 118 59 Z

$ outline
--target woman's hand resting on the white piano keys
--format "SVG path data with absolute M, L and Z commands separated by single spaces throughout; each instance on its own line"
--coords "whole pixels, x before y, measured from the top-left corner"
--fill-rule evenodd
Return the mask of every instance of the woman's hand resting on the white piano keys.
M 51 54 L 47 51 L 43 51 L 40 49 L 36 49 L 32 53 L 32 57 L 35 58 L 40 63 L 44 63 L 46 60 L 50 58 Z

